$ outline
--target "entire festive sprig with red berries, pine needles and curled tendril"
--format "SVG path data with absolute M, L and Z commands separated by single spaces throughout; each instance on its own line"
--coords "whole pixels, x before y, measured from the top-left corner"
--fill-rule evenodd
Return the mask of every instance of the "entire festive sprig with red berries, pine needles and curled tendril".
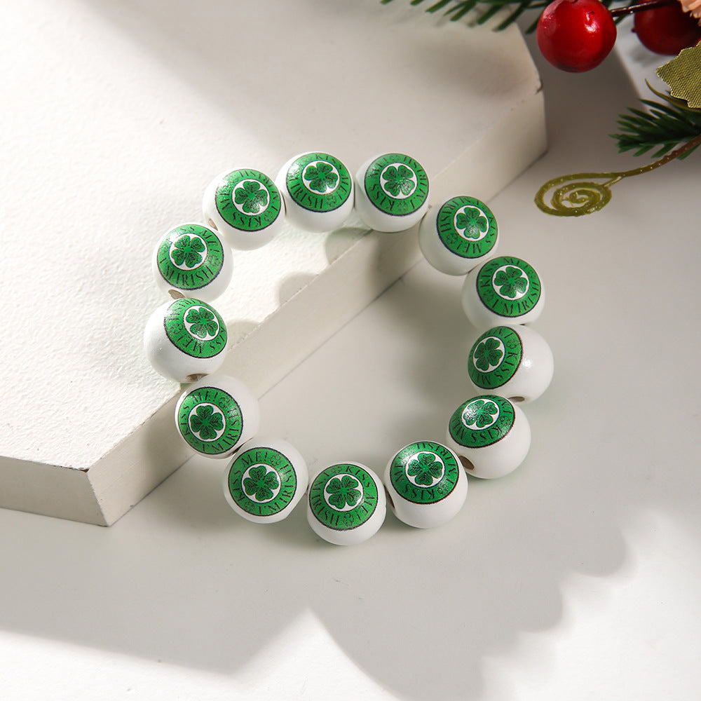
M 388 4 L 393 0 L 381 0 Z M 611 136 L 618 151 L 642 156 L 653 151 L 658 160 L 632 170 L 583 172 L 548 180 L 536 193 L 536 205 L 547 214 L 578 217 L 605 207 L 611 187 L 632 175 L 655 170 L 686 158 L 701 145 L 701 22 L 690 11 L 701 0 L 629 0 L 610 9 L 615 0 L 434 0 L 426 12 L 443 11 L 453 21 L 472 9 L 482 11 L 477 24 L 484 24 L 503 8 L 508 15 L 495 29 L 505 29 L 526 10 L 538 9 L 536 22 L 526 32 L 536 31 L 543 57 L 564 71 L 579 73 L 597 67 L 615 44 L 616 24 L 634 15 L 634 30 L 641 43 L 655 53 L 676 55 L 658 69 L 670 88 L 669 94 L 648 87 L 662 99 L 641 100 L 647 109 L 629 107 L 619 115 L 619 132 Z M 411 0 L 421 5 L 424 0 Z M 701 6 L 698 8 L 701 12 Z M 679 55 L 677 55 L 679 54 Z M 603 181 L 603 182 L 600 182 Z M 546 202 L 545 198 L 550 201 Z

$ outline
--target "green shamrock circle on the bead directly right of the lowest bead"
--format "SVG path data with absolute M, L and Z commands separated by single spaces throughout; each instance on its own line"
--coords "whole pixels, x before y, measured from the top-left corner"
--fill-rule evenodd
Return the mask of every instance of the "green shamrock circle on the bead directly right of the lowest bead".
M 458 484 L 460 468 L 440 443 L 419 441 L 402 448 L 390 465 L 390 482 L 407 501 L 435 504 Z

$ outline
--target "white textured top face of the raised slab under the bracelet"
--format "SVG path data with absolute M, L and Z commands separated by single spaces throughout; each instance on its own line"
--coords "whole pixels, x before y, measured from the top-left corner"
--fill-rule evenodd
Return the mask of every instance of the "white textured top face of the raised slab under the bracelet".
M 0 259 L 12 329 L 0 341 L 0 455 L 89 468 L 172 397 L 142 353 L 162 300 L 149 257 L 168 227 L 199 219 L 217 172 L 249 163 L 274 177 L 310 147 L 354 170 L 391 144 L 436 175 L 532 93 L 516 29 L 466 42 L 464 27 L 400 5 L 3 4 L 1 219 L 13 255 Z M 232 337 L 355 236 L 289 229 L 238 254 L 217 305 Z

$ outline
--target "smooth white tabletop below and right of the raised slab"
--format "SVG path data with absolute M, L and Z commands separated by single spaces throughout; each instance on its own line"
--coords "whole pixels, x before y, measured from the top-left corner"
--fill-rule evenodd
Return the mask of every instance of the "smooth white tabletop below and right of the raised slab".
M 550 151 L 490 203 L 547 286 L 556 369 L 524 465 L 441 529 L 388 515 L 346 549 L 301 508 L 238 519 L 199 459 L 110 529 L 0 512 L 0 697 L 697 699 L 698 155 L 543 215 L 545 179 L 646 161 L 606 136 L 637 99 L 615 56 L 538 65 Z M 440 439 L 476 336 L 459 288 L 416 266 L 264 396 L 264 433 L 312 471 Z

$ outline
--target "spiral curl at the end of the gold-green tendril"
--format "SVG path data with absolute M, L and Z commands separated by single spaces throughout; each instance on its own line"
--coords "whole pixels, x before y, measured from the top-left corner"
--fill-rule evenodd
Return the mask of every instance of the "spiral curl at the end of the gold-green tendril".
M 618 182 L 618 173 L 573 173 L 548 180 L 536 194 L 536 205 L 548 215 L 559 217 L 580 217 L 600 210 L 611 200 L 610 186 Z M 604 183 L 590 178 L 609 178 Z M 548 191 L 550 203 L 545 202 Z

